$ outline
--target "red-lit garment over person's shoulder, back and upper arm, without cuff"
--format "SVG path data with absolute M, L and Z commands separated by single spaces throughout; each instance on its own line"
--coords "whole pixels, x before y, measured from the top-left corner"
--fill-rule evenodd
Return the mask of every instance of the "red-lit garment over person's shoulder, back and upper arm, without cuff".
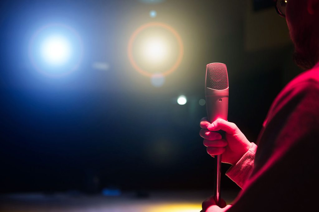
M 278 95 L 258 139 L 252 174 L 229 211 L 314 209 L 319 188 L 319 67 Z M 267 204 L 265 204 L 267 203 Z

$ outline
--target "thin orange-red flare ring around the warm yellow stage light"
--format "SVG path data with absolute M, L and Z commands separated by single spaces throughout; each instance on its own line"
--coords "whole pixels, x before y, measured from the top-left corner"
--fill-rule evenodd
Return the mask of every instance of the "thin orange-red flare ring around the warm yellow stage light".
M 169 68 L 168 70 L 162 72 L 161 74 L 163 76 L 167 76 L 169 75 L 170 73 L 174 72 L 177 67 L 180 65 L 180 63 L 182 62 L 182 58 L 183 58 L 183 54 L 184 54 L 184 47 L 183 47 L 183 43 L 182 43 L 182 39 L 180 37 L 180 35 L 169 25 L 167 24 L 164 24 L 164 23 L 160 23 L 160 22 L 151 22 L 151 23 L 148 23 L 148 24 L 144 24 L 142 26 L 140 26 L 139 28 L 137 28 L 137 30 L 135 30 L 133 32 L 133 34 L 131 35 L 130 37 L 130 40 L 129 40 L 129 44 L 128 44 L 128 57 L 130 59 L 130 63 L 132 64 L 132 66 L 137 70 L 137 72 L 147 76 L 147 77 L 152 77 L 153 76 L 153 73 L 150 73 L 150 72 L 147 72 L 145 70 L 143 70 L 142 68 L 140 68 L 136 61 L 134 60 L 133 58 L 133 52 L 132 52 L 132 49 L 133 49 L 133 42 L 136 38 L 136 36 L 143 30 L 149 28 L 149 27 L 154 27 L 154 26 L 159 26 L 159 27 L 162 27 L 168 31 L 170 31 L 174 37 L 176 38 L 177 40 L 177 43 L 178 43 L 178 46 L 179 46 L 179 54 L 178 54 L 178 58 L 177 60 L 175 61 L 174 65 Z

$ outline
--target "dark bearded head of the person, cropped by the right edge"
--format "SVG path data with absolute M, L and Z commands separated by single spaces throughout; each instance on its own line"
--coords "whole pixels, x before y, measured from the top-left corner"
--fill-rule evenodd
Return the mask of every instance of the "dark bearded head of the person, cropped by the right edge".
M 293 59 L 310 69 L 319 61 L 319 0 L 287 0 L 285 13 L 295 46 Z

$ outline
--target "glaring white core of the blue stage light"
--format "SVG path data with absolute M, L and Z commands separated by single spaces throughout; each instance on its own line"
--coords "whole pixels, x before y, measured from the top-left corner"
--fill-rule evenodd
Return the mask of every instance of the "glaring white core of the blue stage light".
M 43 41 L 41 54 L 46 63 L 62 65 L 71 54 L 70 43 L 61 35 L 52 35 Z

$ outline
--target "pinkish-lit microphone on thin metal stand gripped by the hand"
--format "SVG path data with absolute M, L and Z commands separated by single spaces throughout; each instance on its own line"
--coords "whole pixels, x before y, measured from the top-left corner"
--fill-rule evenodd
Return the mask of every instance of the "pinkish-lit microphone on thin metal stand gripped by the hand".
M 208 120 L 212 123 L 216 119 L 227 120 L 228 116 L 228 74 L 223 63 L 210 63 L 206 66 L 205 98 Z M 219 131 L 223 135 L 223 131 Z M 220 205 L 220 167 L 221 155 L 215 156 L 214 197 Z

